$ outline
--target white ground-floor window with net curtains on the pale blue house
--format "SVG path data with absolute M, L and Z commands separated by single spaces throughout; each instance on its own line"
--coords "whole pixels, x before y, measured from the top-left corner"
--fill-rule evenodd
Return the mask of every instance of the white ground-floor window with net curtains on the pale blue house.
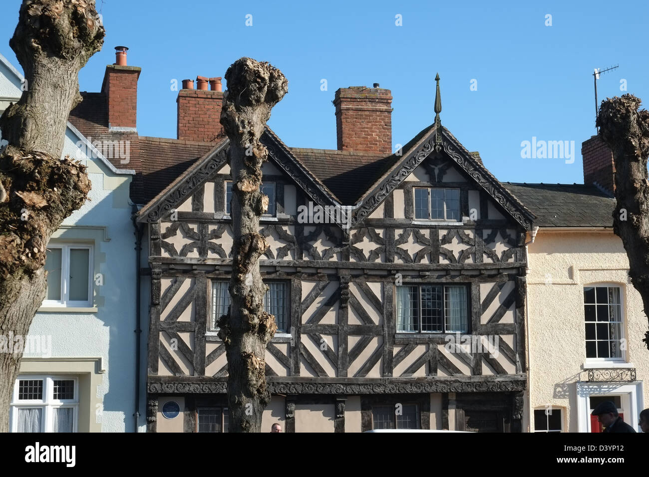
M 19 376 L 14 384 L 10 419 L 12 432 L 77 432 L 77 378 Z

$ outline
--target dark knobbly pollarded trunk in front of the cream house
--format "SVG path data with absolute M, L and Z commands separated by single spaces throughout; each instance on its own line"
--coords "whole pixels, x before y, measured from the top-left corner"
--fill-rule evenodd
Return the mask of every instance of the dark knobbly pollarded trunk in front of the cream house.
M 600 137 L 613 151 L 615 199 L 613 232 L 622 239 L 629 275 L 649 316 L 649 112 L 631 95 L 602 101 L 597 117 Z M 643 341 L 649 348 L 649 331 Z

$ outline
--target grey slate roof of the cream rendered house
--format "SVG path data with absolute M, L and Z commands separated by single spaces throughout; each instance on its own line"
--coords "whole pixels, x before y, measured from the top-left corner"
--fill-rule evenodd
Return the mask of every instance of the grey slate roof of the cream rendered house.
M 537 216 L 539 227 L 612 227 L 615 199 L 584 184 L 501 182 Z

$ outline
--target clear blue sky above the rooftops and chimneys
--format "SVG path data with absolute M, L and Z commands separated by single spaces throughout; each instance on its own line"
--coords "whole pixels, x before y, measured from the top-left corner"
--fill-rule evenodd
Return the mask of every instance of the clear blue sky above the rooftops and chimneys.
M 18 69 L 8 39 L 20 3 L 3 0 L 0 7 L 0 53 Z M 378 82 L 392 90 L 393 144 L 406 143 L 433 122 L 439 72 L 442 124 L 469 151 L 480 151 L 498 179 L 583 182 L 581 143 L 596 133 L 593 69 L 620 66 L 600 77 L 600 101 L 625 93 L 621 80 L 628 92 L 649 98 L 649 53 L 642 47 L 649 3 L 445 4 L 98 0 L 106 40 L 80 72 L 80 90 L 99 91 L 114 47 L 128 46 L 129 64 L 142 68 L 140 134 L 175 138 L 171 80 L 224 76 L 234 60 L 250 56 L 271 62 L 289 80 L 269 121 L 280 138 L 294 147 L 336 149 L 337 88 Z M 245 24 L 248 14 L 252 26 Z M 574 141 L 574 163 L 521 158 L 521 142 L 533 137 Z

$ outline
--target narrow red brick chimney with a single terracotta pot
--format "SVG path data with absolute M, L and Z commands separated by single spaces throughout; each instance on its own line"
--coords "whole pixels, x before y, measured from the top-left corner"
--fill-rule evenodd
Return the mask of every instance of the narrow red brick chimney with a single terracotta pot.
M 115 64 L 106 66 L 101 92 L 108 103 L 108 127 L 113 130 L 135 130 L 138 116 L 138 78 L 142 69 L 127 66 L 125 46 L 115 47 Z

